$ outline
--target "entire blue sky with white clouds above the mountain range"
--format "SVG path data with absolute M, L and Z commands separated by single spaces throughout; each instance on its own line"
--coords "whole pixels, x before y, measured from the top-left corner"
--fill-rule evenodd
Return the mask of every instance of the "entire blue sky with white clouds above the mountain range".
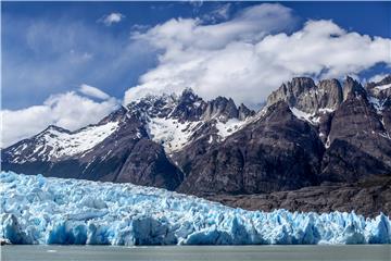
M 294 76 L 391 72 L 391 2 L 2 2 L 1 147 L 191 87 L 252 108 Z

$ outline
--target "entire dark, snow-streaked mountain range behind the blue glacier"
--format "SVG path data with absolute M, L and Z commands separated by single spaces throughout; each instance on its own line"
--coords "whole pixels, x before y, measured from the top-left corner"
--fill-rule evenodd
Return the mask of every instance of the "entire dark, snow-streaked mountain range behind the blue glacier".
M 375 192 L 391 191 L 390 95 L 391 76 L 365 87 L 351 77 L 297 77 L 258 112 L 225 97 L 205 101 L 191 89 L 150 95 L 96 125 L 49 126 L 5 148 L 2 170 L 154 186 L 236 207 L 391 213 Z M 345 203 L 333 204 L 327 191 Z M 375 198 L 348 204 L 358 192 Z M 273 197 L 269 204 L 254 200 L 262 195 Z M 321 204 L 295 201 L 316 195 Z

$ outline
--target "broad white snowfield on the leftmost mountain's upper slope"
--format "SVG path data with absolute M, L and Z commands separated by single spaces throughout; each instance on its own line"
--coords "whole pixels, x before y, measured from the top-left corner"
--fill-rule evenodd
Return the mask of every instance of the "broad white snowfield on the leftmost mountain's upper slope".
M 71 157 L 86 152 L 112 135 L 118 128 L 118 122 L 108 122 L 102 125 L 92 125 L 81 128 L 80 130 L 70 133 L 61 132 L 58 128 L 48 128 L 37 136 L 37 146 L 26 159 L 15 158 L 14 161 L 23 163 L 25 160 L 34 161 L 33 158 L 37 152 L 38 156 L 46 154 L 48 159 Z M 21 151 L 23 148 L 21 149 Z

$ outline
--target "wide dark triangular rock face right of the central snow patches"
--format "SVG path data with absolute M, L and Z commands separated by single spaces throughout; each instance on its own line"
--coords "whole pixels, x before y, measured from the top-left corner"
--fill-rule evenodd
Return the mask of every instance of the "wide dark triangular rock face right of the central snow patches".
M 314 185 L 321 153 L 316 130 L 278 102 L 218 146 L 200 148 L 193 162 L 184 163 L 189 174 L 179 191 L 252 194 Z

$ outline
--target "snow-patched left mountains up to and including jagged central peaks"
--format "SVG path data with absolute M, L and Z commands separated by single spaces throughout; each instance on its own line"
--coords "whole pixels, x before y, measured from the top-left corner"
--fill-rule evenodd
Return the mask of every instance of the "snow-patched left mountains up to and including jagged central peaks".
M 135 183 L 174 190 L 184 173 L 168 156 L 211 133 L 222 139 L 254 112 L 231 99 L 205 102 L 192 90 L 148 96 L 76 132 L 49 126 L 2 151 L 2 170 Z

